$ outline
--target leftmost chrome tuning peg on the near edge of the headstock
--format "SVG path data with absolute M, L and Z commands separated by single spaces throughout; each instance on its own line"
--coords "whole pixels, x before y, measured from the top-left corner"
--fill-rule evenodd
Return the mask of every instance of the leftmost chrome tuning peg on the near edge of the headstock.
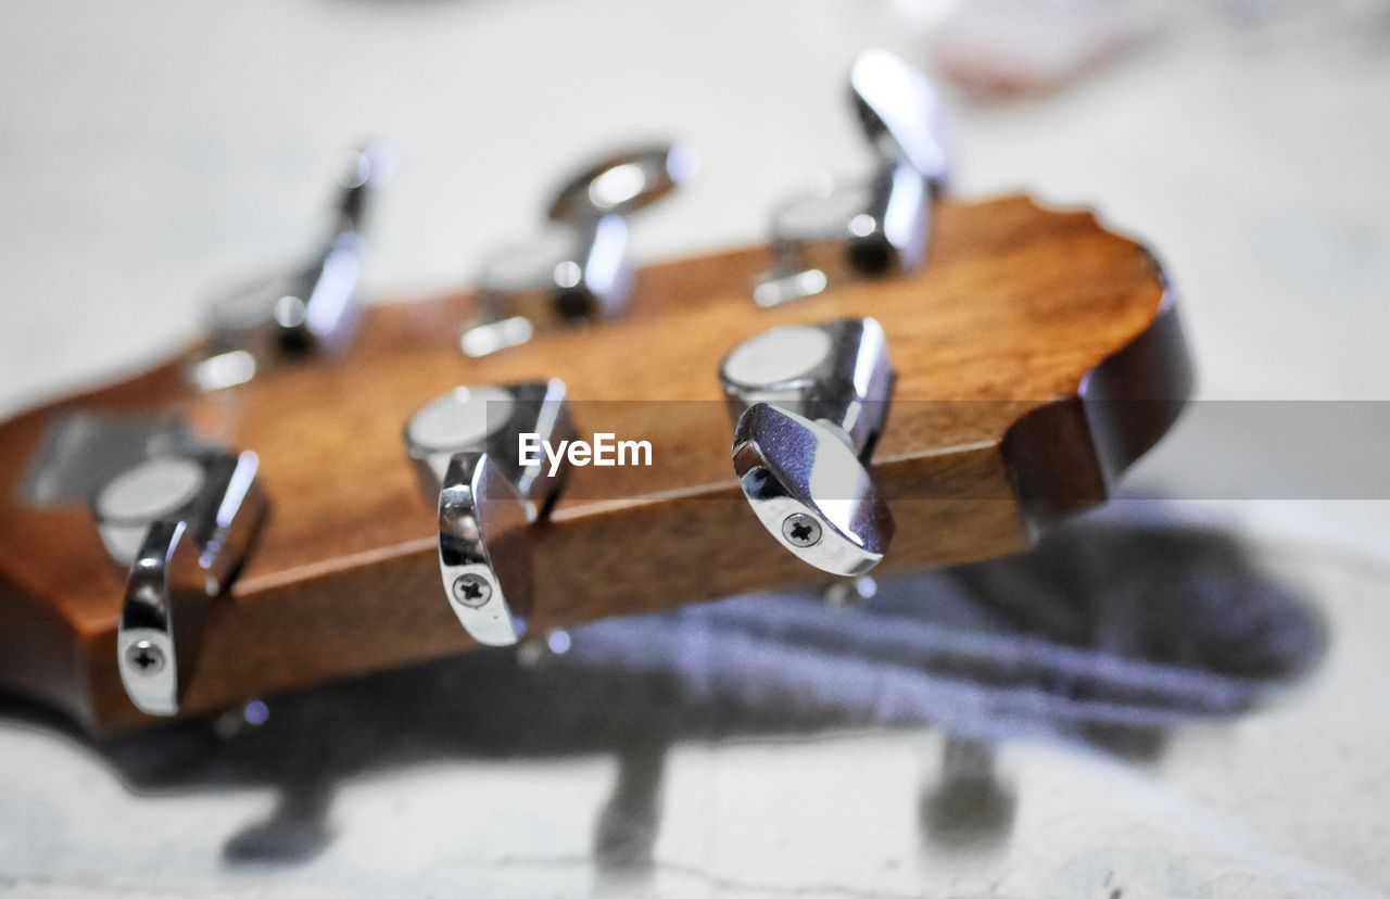
M 117 666 L 147 714 L 178 713 L 207 603 L 228 589 L 265 516 L 259 467 L 254 453 L 157 456 L 92 500 L 101 542 L 129 568 Z

